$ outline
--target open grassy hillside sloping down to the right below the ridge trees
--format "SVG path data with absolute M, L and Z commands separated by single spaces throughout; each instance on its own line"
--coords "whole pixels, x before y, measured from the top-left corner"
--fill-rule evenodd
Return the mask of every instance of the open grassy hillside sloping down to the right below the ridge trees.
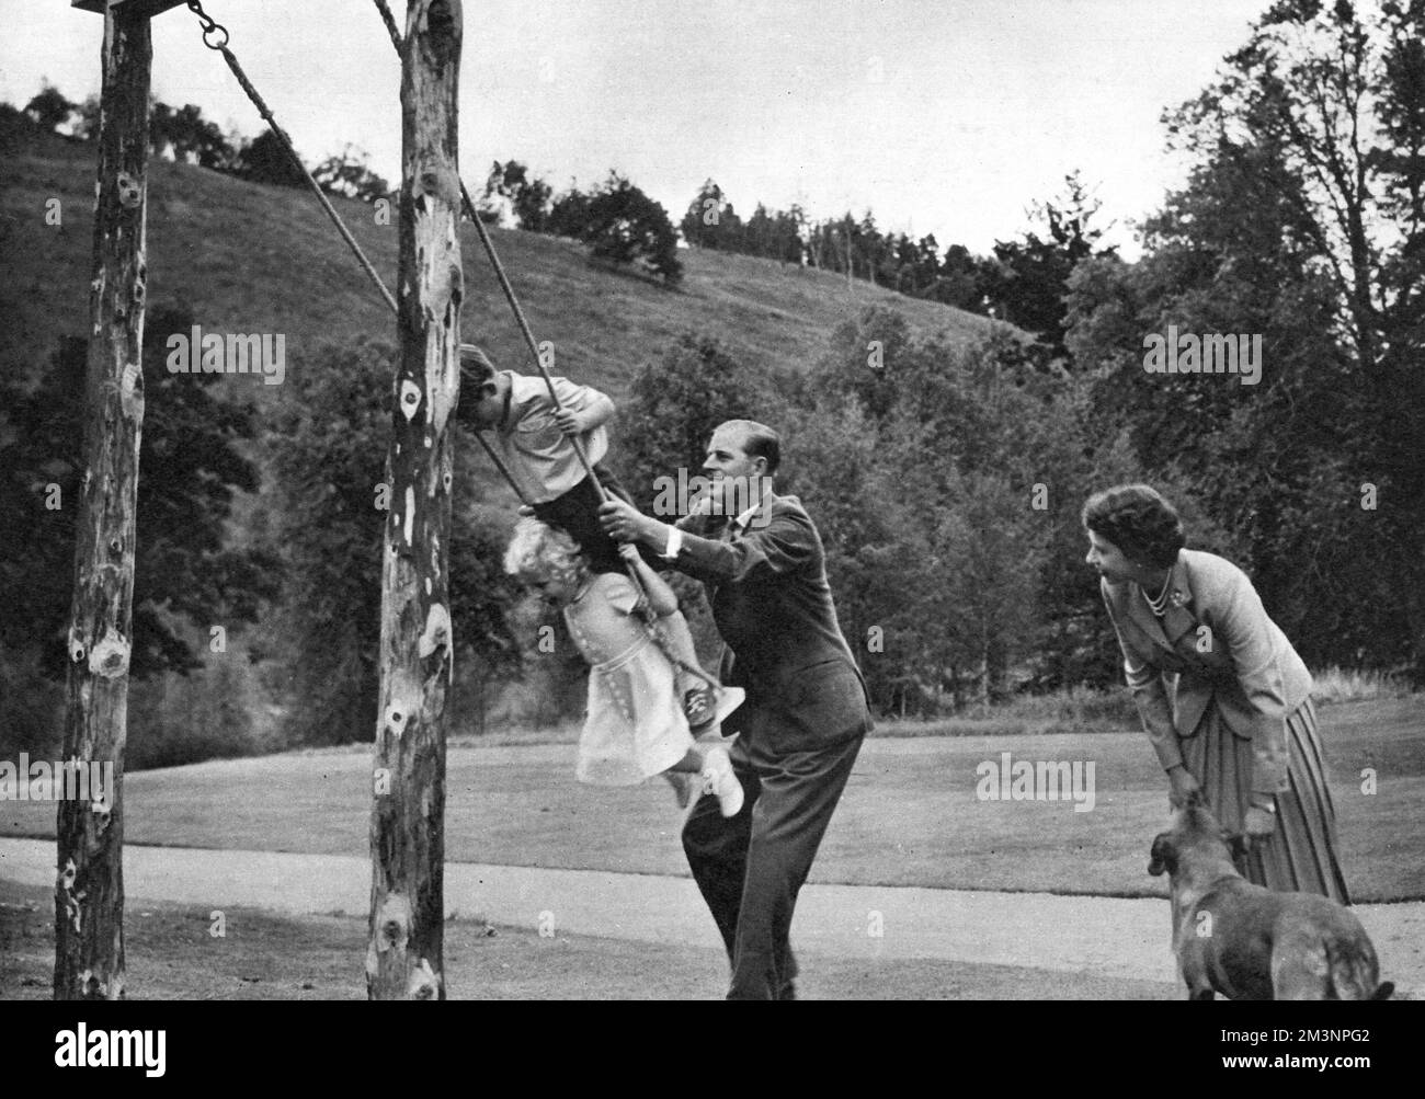
M 83 333 L 93 248 L 94 147 L 44 138 L 0 162 L 0 369 L 34 362 L 64 333 Z M 46 225 L 50 198 L 63 224 Z M 376 269 L 395 288 L 396 225 L 336 202 Z M 496 249 L 559 373 L 616 397 L 633 372 L 688 329 L 711 333 L 745 362 L 805 366 L 846 316 L 892 305 L 919 332 L 965 339 L 989 320 L 866 283 L 751 256 L 687 251 L 680 290 L 591 266 L 584 248 L 494 231 Z M 463 336 L 500 364 L 527 369 L 519 329 L 463 228 Z M 148 192 L 148 300 L 187 300 L 211 332 L 286 335 L 289 363 L 312 342 L 366 332 L 395 340 L 395 322 L 311 192 L 261 186 L 184 164 L 154 162 Z M 261 389 L 261 387 L 258 387 Z

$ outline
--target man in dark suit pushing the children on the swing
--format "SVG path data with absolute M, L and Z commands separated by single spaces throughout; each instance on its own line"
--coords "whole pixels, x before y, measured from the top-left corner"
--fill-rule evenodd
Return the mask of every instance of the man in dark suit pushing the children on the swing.
M 825 554 L 797 497 L 772 491 L 775 431 L 730 420 L 712 433 L 711 494 L 675 525 L 611 500 L 604 530 L 701 579 L 725 643 L 722 682 L 747 690 L 724 722 L 742 810 L 703 797 L 683 830 L 693 877 L 732 962 L 728 999 L 794 999 L 788 932 L 797 894 L 872 720 L 826 584 Z M 740 494 L 738 490 L 751 487 Z M 734 503 L 751 501 L 738 515 Z

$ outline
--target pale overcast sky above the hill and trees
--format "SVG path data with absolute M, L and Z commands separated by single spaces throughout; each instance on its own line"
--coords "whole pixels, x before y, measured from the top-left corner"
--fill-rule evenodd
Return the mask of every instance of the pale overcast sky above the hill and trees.
M 389 0 L 405 26 L 405 4 Z M 1267 0 L 465 0 L 460 165 L 519 159 L 556 188 L 617 168 L 674 222 L 712 178 L 812 216 L 988 253 L 1077 169 L 1134 222 L 1186 175 L 1160 117 L 1245 41 Z M 369 0 L 205 0 L 309 164 L 348 144 L 400 174 L 400 65 Z M 103 17 L 0 0 L 0 100 L 100 85 Z M 154 94 L 255 137 L 256 110 L 182 4 L 154 20 Z

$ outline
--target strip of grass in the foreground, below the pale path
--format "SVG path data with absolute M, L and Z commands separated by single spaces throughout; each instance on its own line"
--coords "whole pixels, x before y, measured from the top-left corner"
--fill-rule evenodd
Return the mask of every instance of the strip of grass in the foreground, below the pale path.
M 50 999 L 54 898 L 0 881 L 0 1001 Z M 130 898 L 128 987 L 141 999 L 365 999 L 366 918 L 234 908 L 242 934 L 209 935 L 208 913 Z M 493 934 L 492 934 L 493 931 Z M 627 942 L 452 920 L 452 999 L 707 999 L 727 984 L 718 950 Z M 1173 987 L 1093 974 L 935 959 L 802 952 L 811 999 L 1171 999 Z

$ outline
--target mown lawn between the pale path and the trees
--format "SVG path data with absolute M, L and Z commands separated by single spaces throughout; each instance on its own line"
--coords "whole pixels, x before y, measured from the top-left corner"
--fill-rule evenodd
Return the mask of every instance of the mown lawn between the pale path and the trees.
M 1357 901 L 1425 898 L 1425 698 L 1321 709 L 1347 880 Z M 1094 806 L 988 801 L 976 766 L 1094 764 Z M 687 874 L 661 780 L 580 786 L 573 745 L 452 749 L 452 861 Z M 1362 769 L 1377 790 L 1362 792 Z M 128 843 L 365 856 L 369 750 L 141 772 L 125 783 Z M 868 740 L 812 881 L 1166 895 L 1146 873 L 1166 783 L 1137 733 Z M 0 803 L 0 834 L 54 834 L 53 804 Z

